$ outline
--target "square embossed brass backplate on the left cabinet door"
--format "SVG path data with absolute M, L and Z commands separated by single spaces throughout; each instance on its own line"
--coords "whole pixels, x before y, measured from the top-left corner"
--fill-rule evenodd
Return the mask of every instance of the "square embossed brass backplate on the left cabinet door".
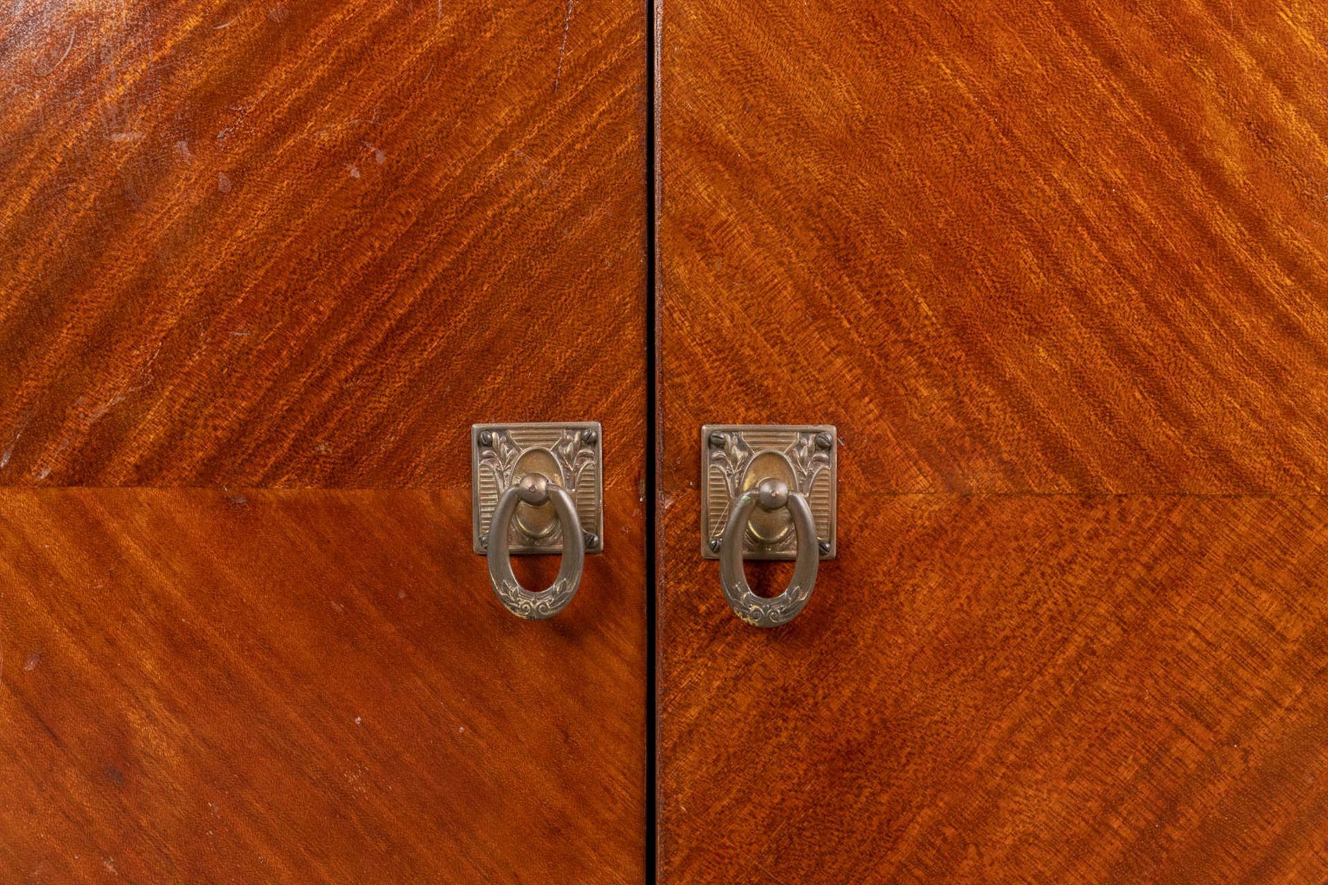
M 522 476 L 544 474 L 571 494 L 586 535 L 586 552 L 604 549 L 604 442 L 598 421 L 527 425 L 473 425 L 470 475 L 473 536 L 477 553 L 487 553 L 489 524 L 498 498 Z M 510 553 L 562 553 L 563 525 L 552 504 L 517 504 Z

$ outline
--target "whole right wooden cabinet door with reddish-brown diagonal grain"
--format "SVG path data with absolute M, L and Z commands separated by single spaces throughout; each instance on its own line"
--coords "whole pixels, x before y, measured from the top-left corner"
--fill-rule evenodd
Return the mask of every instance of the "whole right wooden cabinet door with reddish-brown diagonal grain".
M 661 16 L 660 881 L 1325 881 L 1323 8 Z M 786 626 L 705 422 L 838 426 Z

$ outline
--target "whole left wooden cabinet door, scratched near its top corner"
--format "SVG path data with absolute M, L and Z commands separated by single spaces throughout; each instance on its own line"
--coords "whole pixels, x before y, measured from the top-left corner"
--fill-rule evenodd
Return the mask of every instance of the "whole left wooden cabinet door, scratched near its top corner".
M 641 881 L 644 34 L 5 4 L 0 880 Z M 525 622 L 469 429 L 555 419 L 606 551 Z

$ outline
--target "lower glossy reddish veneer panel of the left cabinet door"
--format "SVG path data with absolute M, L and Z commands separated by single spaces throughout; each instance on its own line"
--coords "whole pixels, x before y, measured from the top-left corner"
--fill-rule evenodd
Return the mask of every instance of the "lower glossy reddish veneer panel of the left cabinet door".
M 607 508 L 531 624 L 462 492 L 0 491 L 0 877 L 641 881 L 643 516 Z

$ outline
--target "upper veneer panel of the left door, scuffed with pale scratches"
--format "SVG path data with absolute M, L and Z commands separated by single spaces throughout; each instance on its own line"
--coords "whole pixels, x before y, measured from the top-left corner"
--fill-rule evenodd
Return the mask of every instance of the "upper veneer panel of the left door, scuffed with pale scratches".
M 0 483 L 461 487 L 479 421 L 639 451 L 641 19 L 7 4 Z

